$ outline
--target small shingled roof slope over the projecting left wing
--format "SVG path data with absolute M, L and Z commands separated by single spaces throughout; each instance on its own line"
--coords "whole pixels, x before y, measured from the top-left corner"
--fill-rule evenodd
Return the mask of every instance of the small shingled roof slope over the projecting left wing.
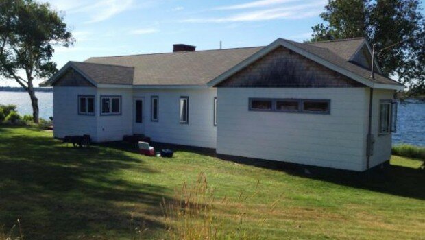
M 90 62 L 70 62 L 71 66 L 82 71 L 84 75 L 98 84 L 133 84 L 134 67 L 110 64 L 93 64 Z

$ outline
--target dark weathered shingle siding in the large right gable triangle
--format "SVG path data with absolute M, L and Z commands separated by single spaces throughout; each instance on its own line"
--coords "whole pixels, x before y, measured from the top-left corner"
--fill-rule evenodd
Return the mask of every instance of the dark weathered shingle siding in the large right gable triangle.
M 239 71 L 218 87 L 363 87 L 363 84 L 323 67 L 298 53 L 278 47 Z

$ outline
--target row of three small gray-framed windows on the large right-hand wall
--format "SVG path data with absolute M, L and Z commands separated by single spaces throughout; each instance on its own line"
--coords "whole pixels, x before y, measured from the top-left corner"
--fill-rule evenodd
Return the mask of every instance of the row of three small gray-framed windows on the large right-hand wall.
M 250 98 L 250 110 L 330 114 L 330 100 Z

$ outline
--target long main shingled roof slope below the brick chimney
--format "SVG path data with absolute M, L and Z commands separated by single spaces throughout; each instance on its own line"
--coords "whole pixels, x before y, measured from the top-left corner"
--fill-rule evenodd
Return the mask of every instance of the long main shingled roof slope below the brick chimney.
M 89 58 L 134 67 L 134 85 L 205 85 L 263 47 Z

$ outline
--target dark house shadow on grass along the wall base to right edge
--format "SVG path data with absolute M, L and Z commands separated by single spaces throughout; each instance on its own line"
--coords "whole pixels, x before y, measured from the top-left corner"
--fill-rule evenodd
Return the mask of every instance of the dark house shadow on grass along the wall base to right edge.
M 368 176 L 367 172 L 358 173 L 326 167 L 312 167 L 271 160 L 225 156 L 216 154 L 215 149 L 202 147 L 187 147 L 164 143 L 153 143 L 152 145 L 154 145 L 156 149 L 169 148 L 176 152 L 193 152 L 206 156 L 213 156 L 220 158 L 221 160 L 232 161 L 234 163 L 283 171 L 293 176 L 301 176 L 304 178 L 341 184 L 348 187 L 425 200 L 425 185 L 423 184 L 425 182 L 425 170 L 422 169 L 413 169 L 411 167 L 402 167 L 398 165 L 387 165 L 385 169 L 373 169 Z M 309 174 L 306 173 L 305 169 L 308 169 Z

